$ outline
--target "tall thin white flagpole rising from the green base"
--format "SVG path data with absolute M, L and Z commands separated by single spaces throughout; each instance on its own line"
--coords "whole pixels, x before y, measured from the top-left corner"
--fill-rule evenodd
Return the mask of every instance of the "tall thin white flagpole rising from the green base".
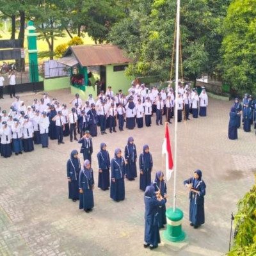
M 177 183 L 177 140 L 178 140 L 178 85 L 179 85 L 179 42 L 180 42 L 180 0 L 177 0 L 176 27 L 176 67 L 175 67 L 175 129 L 174 129 L 174 183 L 173 183 L 173 212 L 176 209 Z

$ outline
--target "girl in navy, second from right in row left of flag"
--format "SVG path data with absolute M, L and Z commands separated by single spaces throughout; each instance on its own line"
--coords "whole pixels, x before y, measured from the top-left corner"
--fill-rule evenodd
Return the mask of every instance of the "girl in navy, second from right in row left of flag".
M 125 169 L 128 180 L 134 180 L 137 177 L 137 150 L 132 137 L 128 138 L 124 149 Z

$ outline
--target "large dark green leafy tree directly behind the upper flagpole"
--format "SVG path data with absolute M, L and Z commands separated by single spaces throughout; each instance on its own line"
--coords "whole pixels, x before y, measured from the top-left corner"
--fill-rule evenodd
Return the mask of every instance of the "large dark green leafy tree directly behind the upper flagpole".
M 195 81 L 203 72 L 215 70 L 220 63 L 220 24 L 228 3 L 228 0 L 182 1 L 181 49 L 184 76 L 188 79 Z M 109 40 L 134 59 L 127 73 L 170 79 L 176 1 L 142 0 L 130 9 L 129 17 L 118 22 L 109 34 Z M 172 75 L 173 79 L 175 74 Z

